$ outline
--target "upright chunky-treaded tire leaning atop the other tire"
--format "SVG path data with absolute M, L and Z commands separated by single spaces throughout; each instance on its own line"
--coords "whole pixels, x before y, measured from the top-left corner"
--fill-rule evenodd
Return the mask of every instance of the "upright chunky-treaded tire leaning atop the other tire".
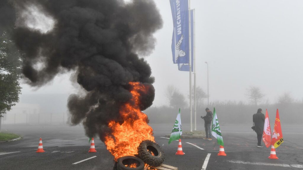
M 138 157 L 150 166 L 159 166 L 165 159 L 160 146 L 150 140 L 144 140 L 138 147 Z

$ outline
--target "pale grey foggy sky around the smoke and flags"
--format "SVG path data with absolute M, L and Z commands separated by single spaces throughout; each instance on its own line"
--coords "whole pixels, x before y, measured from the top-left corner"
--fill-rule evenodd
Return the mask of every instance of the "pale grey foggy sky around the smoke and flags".
M 154 34 L 155 50 L 144 57 L 155 77 L 154 106 L 161 106 L 167 103 L 164 93 L 169 84 L 187 96 L 189 73 L 178 71 L 172 62 L 169 1 L 155 3 L 163 27 Z M 283 93 L 302 100 L 302 6 L 300 0 L 191 0 L 196 14 L 197 86 L 207 91 L 207 61 L 210 101 L 248 102 L 244 94 L 250 86 L 259 87 L 265 94 L 262 102 L 275 103 Z M 77 91 L 67 74 L 38 90 L 26 84 L 22 87 L 24 94 Z

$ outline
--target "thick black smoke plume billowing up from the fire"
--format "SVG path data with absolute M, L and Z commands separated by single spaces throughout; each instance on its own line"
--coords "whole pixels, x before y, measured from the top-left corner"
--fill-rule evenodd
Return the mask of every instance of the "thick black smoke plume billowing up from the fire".
M 132 99 L 129 82 L 150 87 L 141 96 L 140 108 L 151 106 L 154 78 L 138 54 L 154 49 L 153 33 L 162 27 L 152 0 L 0 0 L 0 4 L 13 6 L 5 8 L 6 14 L 14 11 L 16 17 L 6 18 L 4 24 L 11 27 L 22 51 L 22 70 L 30 85 L 40 87 L 59 73 L 76 70 L 76 81 L 87 93 L 69 96 L 68 109 L 72 124 L 83 121 L 89 137 L 98 134 L 103 140 L 110 120 L 123 122 L 119 108 Z M 33 18 L 24 14 L 33 7 L 55 21 L 50 31 L 25 26 Z M 37 63 L 43 67 L 37 69 Z

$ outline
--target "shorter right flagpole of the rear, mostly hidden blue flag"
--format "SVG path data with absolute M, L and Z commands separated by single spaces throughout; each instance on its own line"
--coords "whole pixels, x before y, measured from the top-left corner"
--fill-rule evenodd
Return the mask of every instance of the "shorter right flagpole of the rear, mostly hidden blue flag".
M 195 112 L 195 130 L 197 130 L 197 96 L 196 96 L 196 15 L 194 9 L 194 112 Z

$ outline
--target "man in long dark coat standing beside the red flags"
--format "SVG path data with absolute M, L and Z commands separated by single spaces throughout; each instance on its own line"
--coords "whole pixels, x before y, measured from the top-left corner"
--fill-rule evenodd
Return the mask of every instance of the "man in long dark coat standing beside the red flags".
M 264 129 L 265 115 L 262 113 L 262 109 L 258 109 L 258 112 L 252 116 L 252 121 L 255 124 L 255 132 L 257 133 L 258 138 L 257 147 L 263 147 L 261 145 L 261 139 Z

